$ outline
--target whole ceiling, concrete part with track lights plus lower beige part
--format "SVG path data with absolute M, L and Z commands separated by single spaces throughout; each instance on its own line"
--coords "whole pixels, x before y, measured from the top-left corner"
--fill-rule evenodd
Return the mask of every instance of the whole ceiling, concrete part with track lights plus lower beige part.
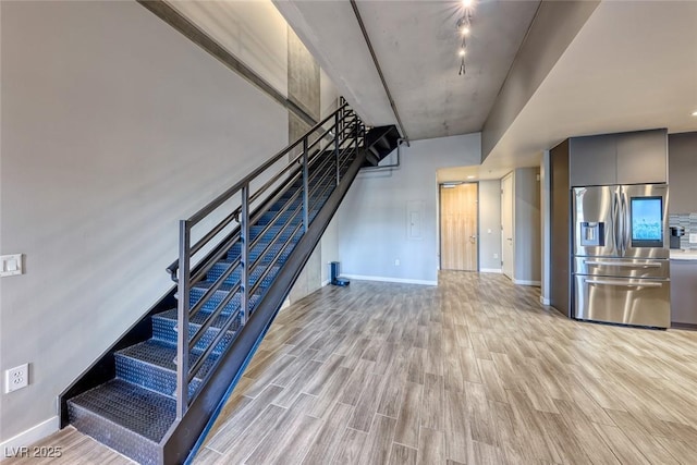
M 457 75 L 460 1 L 358 1 L 411 139 L 482 131 L 538 1 L 478 0 Z M 371 125 L 394 113 L 347 1 L 277 2 L 320 65 Z M 535 23 L 533 23 L 535 27 Z M 697 2 L 602 1 L 479 167 L 452 181 L 539 166 L 566 137 L 652 127 L 697 131 Z

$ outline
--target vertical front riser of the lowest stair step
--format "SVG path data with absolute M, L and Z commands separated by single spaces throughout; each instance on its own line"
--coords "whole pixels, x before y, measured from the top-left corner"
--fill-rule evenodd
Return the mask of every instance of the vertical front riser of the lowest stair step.
M 158 443 L 68 401 L 70 423 L 78 431 L 143 465 L 160 465 Z

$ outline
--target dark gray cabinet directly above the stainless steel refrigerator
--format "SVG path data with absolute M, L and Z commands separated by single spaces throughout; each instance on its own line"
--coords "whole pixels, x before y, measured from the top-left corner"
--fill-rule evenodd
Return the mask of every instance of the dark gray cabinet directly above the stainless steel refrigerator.
M 572 187 L 668 182 L 668 131 L 650 130 L 568 139 Z

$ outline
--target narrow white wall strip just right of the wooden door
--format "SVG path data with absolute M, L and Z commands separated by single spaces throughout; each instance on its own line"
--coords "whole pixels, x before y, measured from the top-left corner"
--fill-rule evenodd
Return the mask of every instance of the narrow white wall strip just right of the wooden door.
M 479 181 L 479 270 L 501 271 L 501 182 L 498 180 Z

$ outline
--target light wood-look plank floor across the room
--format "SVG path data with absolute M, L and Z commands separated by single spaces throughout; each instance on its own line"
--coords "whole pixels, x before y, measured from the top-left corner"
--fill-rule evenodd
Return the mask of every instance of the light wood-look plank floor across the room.
M 442 272 L 283 310 L 194 463 L 695 464 L 696 428 L 697 332 L 577 322 L 535 287 Z

